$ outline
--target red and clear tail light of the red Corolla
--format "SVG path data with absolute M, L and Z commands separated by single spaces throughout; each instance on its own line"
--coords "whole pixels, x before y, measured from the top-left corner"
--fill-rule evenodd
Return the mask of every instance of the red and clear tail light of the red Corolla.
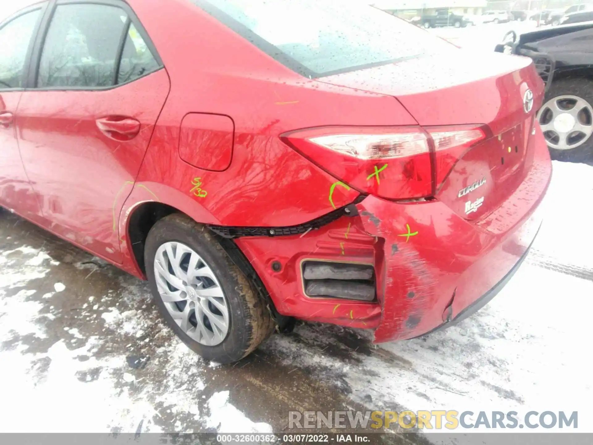
M 350 187 L 388 199 L 433 195 L 458 158 L 484 137 L 477 126 L 324 127 L 281 136 Z

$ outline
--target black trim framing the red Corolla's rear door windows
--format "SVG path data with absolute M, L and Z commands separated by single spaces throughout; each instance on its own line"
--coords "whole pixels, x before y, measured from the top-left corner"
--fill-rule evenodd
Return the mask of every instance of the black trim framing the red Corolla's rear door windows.
M 45 44 L 45 40 L 47 37 L 47 31 L 49 30 L 49 26 L 52 22 L 53 14 L 59 5 L 71 5 L 71 4 L 107 5 L 107 6 L 113 6 L 113 7 L 120 8 L 126 13 L 127 21 L 124 26 L 124 33 L 123 33 L 122 39 L 120 41 L 120 47 L 118 48 L 117 56 L 119 56 L 119 57 L 116 59 L 116 65 L 117 65 L 118 69 L 116 69 L 116 72 L 115 72 L 115 81 L 114 81 L 113 85 L 110 85 L 108 87 L 43 87 L 43 88 L 37 88 L 37 77 L 39 76 L 39 66 L 40 66 L 41 56 L 42 56 L 42 52 L 43 52 L 43 45 Z M 47 6 L 47 4 L 46 4 L 46 6 Z M 139 80 L 142 77 L 145 77 L 149 74 L 152 74 L 155 71 L 159 71 L 160 69 L 164 68 L 161 56 L 158 54 L 157 48 L 154 46 L 154 43 L 152 43 L 151 38 L 148 36 L 148 33 L 146 32 L 144 26 L 142 26 L 142 23 L 139 20 L 138 16 L 133 11 L 133 9 L 130 7 L 130 5 L 128 5 L 123 0 L 49 0 L 49 7 L 47 7 L 45 13 L 42 15 L 43 15 L 42 23 L 39 24 L 39 27 L 37 29 L 37 36 L 36 36 L 36 39 L 34 40 L 34 45 L 31 45 L 31 47 L 29 49 L 31 53 L 28 54 L 30 62 L 28 63 L 28 67 L 27 67 L 28 68 L 28 77 L 27 77 L 27 81 L 25 83 L 26 90 L 36 90 L 36 91 L 71 91 L 71 90 L 74 90 L 74 91 L 104 91 L 104 90 L 113 90 L 114 88 L 121 87 L 122 85 L 126 85 L 127 83 L 130 83 L 130 82 L 135 82 L 136 80 Z M 117 73 L 119 72 L 119 65 L 122 62 L 121 56 L 123 53 L 123 46 L 126 43 L 127 31 L 129 30 L 129 28 L 132 24 L 136 28 L 136 30 L 138 30 L 138 33 L 142 37 L 142 40 L 144 40 L 146 47 L 148 47 L 148 49 L 150 50 L 152 57 L 155 59 L 155 61 L 157 61 L 158 69 L 155 71 L 147 72 L 146 74 L 142 75 L 139 78 L 135 78 L 133 80 L 130 80 L 130 81 L 122 83 L 122 84 L 117 84 Z

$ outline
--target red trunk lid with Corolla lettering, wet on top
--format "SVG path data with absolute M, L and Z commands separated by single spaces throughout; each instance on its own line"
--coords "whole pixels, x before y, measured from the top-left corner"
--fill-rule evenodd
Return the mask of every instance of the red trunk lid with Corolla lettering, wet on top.
M 544 85 L 529 58 L 460 49 L 319 80 L 396 97 L 424 127 L 483 125 L 486 139 L 457 153 L 436 185 L 436 198 L 467 220 L 498 208 L 531 167 L 527 148 Z

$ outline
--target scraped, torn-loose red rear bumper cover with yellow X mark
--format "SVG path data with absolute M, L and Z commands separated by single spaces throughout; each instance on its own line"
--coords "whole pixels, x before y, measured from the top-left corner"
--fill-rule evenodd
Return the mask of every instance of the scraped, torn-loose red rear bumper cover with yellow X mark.
M 382 306 L 376 342 L 459 321 L 506 284 L 541 225 L 538 206 L 551 179 L 541 134 L 531 161 L 524 182 L 479 220 L 438 200 L 397 204 L 368 196 L 357 205 L 366 232 L 384 240 L 375 264 Z

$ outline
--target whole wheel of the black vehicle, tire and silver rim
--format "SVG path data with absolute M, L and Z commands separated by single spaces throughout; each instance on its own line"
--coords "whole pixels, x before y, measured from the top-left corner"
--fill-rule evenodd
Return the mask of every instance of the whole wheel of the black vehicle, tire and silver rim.
M 593 81 L 553 82 L 537 119 L 553 159 L 582 162 L 593 158 Z

